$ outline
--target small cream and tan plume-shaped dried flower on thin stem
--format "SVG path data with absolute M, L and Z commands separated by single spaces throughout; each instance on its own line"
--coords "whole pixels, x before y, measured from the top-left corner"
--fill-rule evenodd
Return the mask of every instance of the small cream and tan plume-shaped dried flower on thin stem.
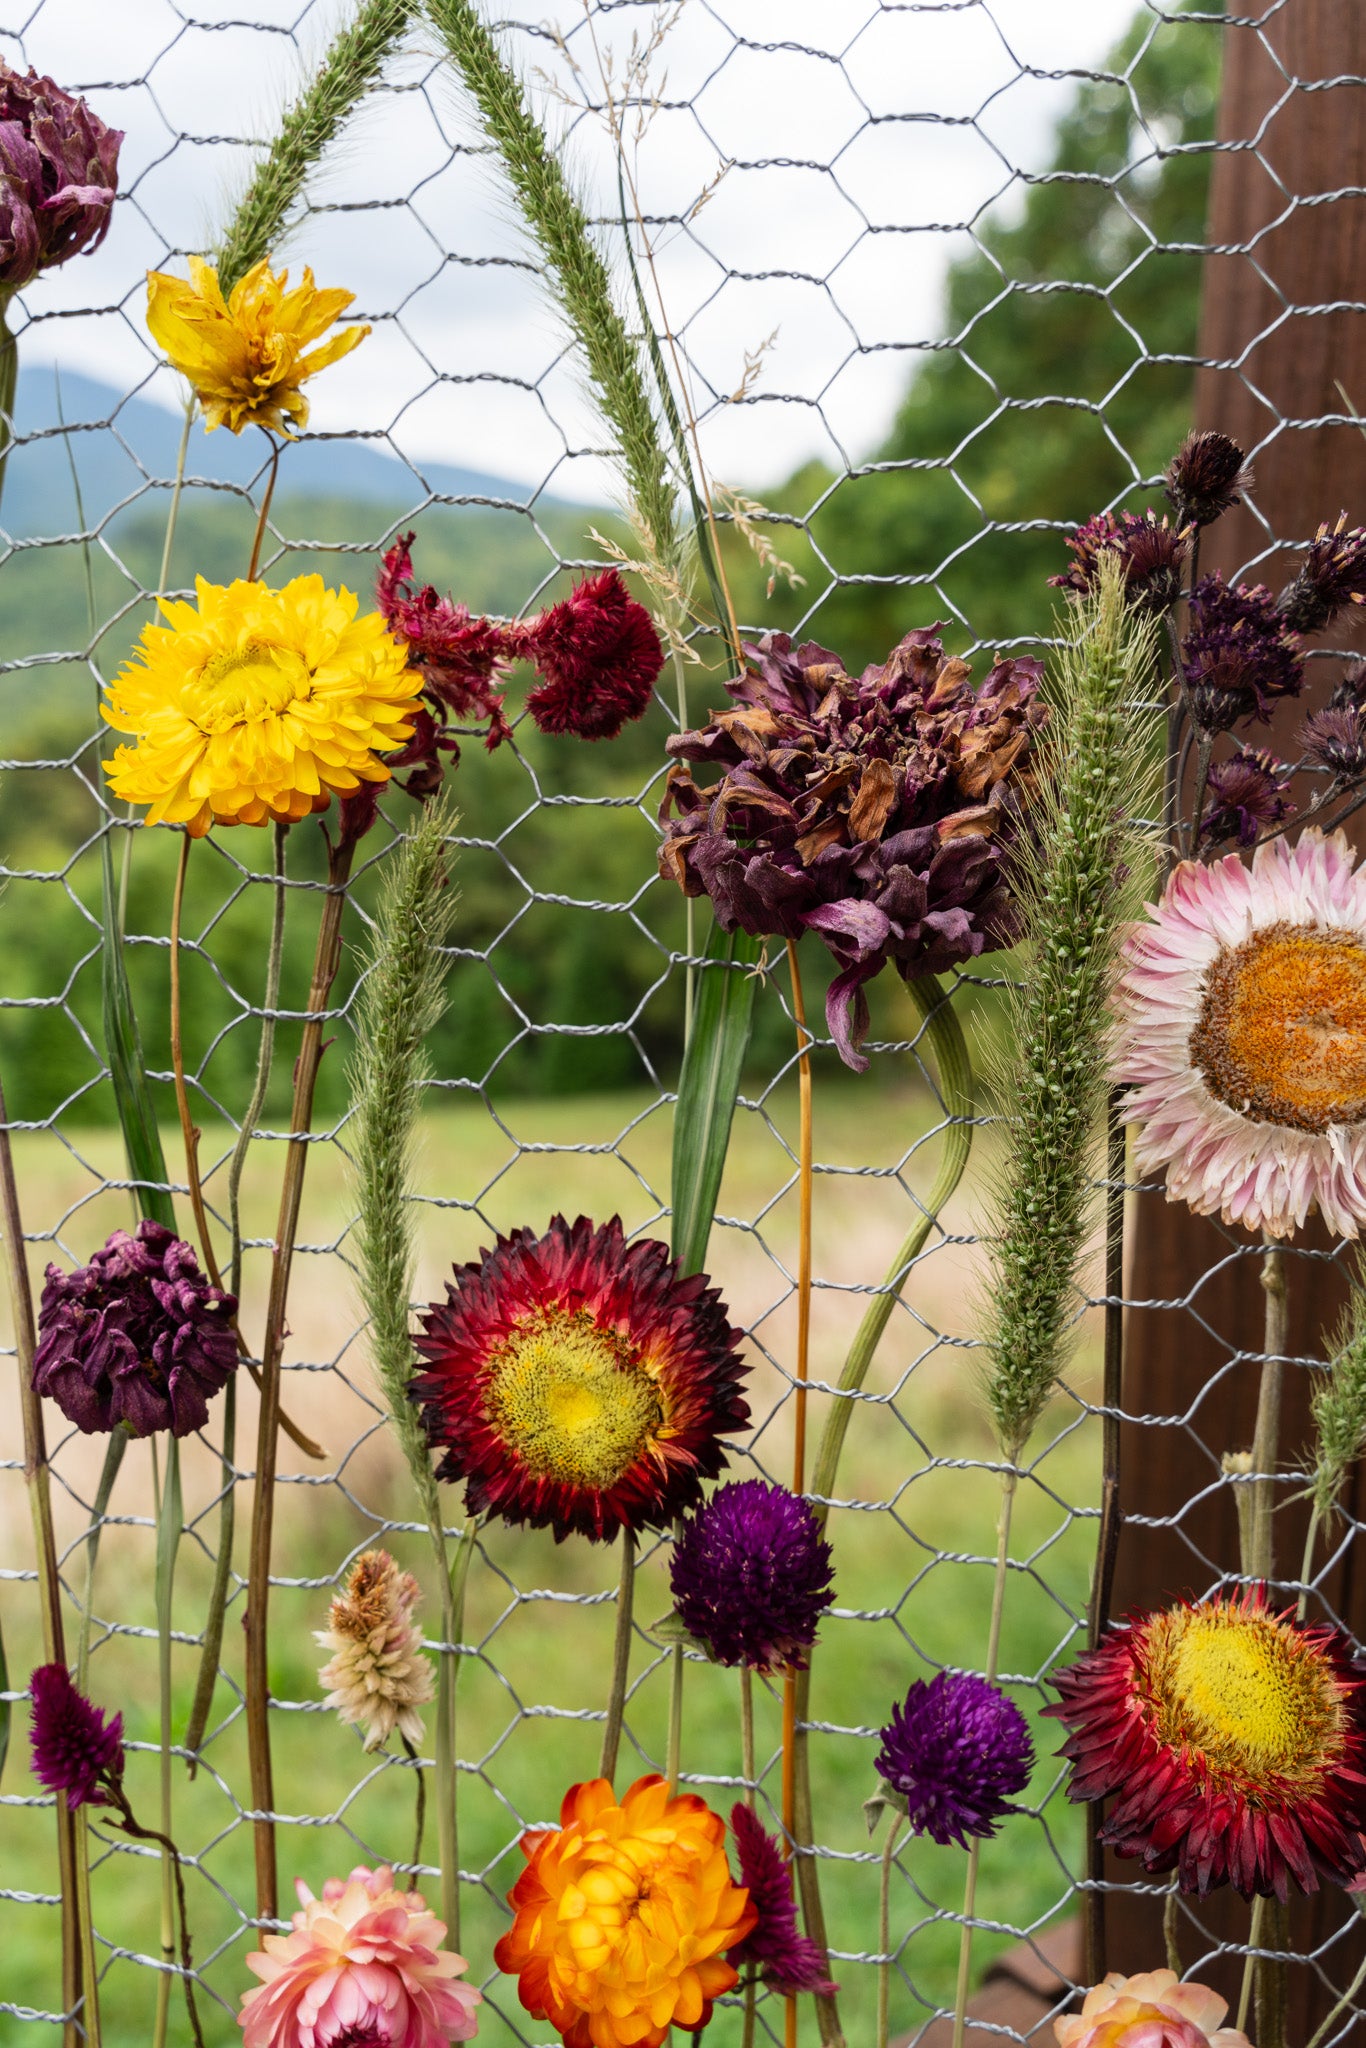
M 332 1688 L 324 1706 L 360 1729 L 367 1749 L 379 1749 L 395 1729 L 410 1743 L 422 1741 L 418 1708 L 432 1698 L 432 1665 L 414 1622 L 420 1599 L 418 1581 L 387 1550 L 362 1550 L 346 1591 L 332 1602 L 328 1628 L 315 1630 L 334 1653 L 317 1673 L 319 1686 Z

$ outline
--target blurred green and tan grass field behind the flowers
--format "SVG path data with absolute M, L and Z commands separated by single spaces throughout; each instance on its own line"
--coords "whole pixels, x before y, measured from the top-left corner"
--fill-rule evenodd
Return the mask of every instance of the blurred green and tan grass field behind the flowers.
M 924 1090 L 858 1090 L 817 1079 L 815 1190 L 815 1315 L 811 1372 L 829 1382 L 874 1284 L 911 1214 L 907 1190 L 934 1176 L 934 1104 Z M 537 1149 L 524 1149 L 535 1139 Z M 741 1112 L 721 1196 L 727 1227 L 713 1237 L 713 1272 L 735 1319 L 754 1329 L 752 1407 L 756 1430 L 748 1452 L 758 1468 L 788 1477 L 795 1270 L 793 1104 L 774 1098 L 766 1112 Z M 209 1165 L 221 1159 L 225 1135 L 205 1135 Z M 457 1257 L 469 1257 L 489 1229 L 543 1225 L 551 1208 L 584 1208 L 606 1217 L 621 1208 L 629 1227 L 657 1217 L 668 1186 L 670 1112 L 645 1098 L 578 1098 L 571 1102 L 498 1104 L 498 1118 L 477 1098 L 434 1110 L 422 1155 L 420 1294 L 440 1286 Z M 567 1147 L 590 1147 L 569 1151 Z M 170 1151 L 168 1141 L 168 1153 Z M 252 1237 L 270 1235 L 281 1153 L 258 1145 L 248 1169 L 246 1223 Z M 989 1161 L 989 1133 L 979 1141 L 977 1174 Z M 328 1450 L 322 1470 L 283 1444 L 276 1573 L 272 1602 L 272 1692 L 287 1702 L 274 1714 L 276 1804 L 293 1819 L 281 1827 L 283 1884 L 295 1874 L 313 1886 L 354 1862 L 410 1860 L 414 1851 L 414 1776 L 399 1759 L 362 1757 L 356 1737 L 324 1714 L 315 1681 L 322 1655 L 311 1630 L 324 1626 L 330 1585 L 354 1550 L 410 1516 L 401 1466 L 387 1442 L 369 1384 L 350 1274 L 344 1253 L 348 1217 L 344 1161 L 324 1151 L 313 1161 L 305 1202 L 297 1294 L 287 1356 L 287 1405 Z M 858 1174 L 848 1169 L 860 1167 Z M 18 1171 L 27 1190 L 29 1229 L 47 1231 L 68 1255 L 84 1257 L 109 1229 L 125 1221 L 125 1196 L 100 1192 L 102 1176 L 119 1169 L 117 1137 L 109 1130 L 68 1133 L 68 1145 L 33 1133 L 20 1141 Z M 211 1174 L 209 1192 L 221 1174 Z M 457 1204 L 457 1206 L 449 1206 Z M 461 1206 L 473 1204 L 473 1206 Z M 872 1372 L 868 1401 L 854 1415 L 840 1477 L 842 1503 L 831 1516 L 838 1606 L 823 1628 L 813 1679 L 813 1769 L 817 1835 L 823 1847 L 823 1888 L 838 1956 L 877 1948 L 879 1841 L 868 1841 L 862 1800 L 874 1790 L 877 1726 L 911 1679 L 936 1665 L 979 1665 L 989 1602 L 989 1559 L 995 1550 L 997 1481 L 983 1468 L 991 1440 L 981 1419 L 971 1350 L 971 1284 L 977 1251 L 954 1239 L 971 1233 L 975 1196 L 969 1184 L 952 1204 L 944 1237 L 936 1235 L 915 1268 L 905 1307 L 893 1317 Z M 737 1227 L 739 1223 L 748 1227 Z M 39 1247 L 41 1249 L 41 1247 Z M 43 1253 L 47 1255 L 47 1253 Z M 53 1255 L 59 1255 L 53 1253 Z M 264 1253 L 244 1288 L 248 1329 L 258 1329 Z M 35 1272 L 41 1268 L 35 1257 Z M 1092 1331 L 1083 1329 L 1073 1386 L 1090 1389 Z M 236 1462 L 254 1464 L 254 1399 L 242 1384 Z M 811 1427 L 819 1432 L 827 1399 L 811 1397 Z M 16 1419 L 6 1403 L 6 1458 L 16 1452 Z M 59 1417 L 49 1417 L 59 1421 Z M 217 1415 L 211 1448 L 184 1446 L 184 1487 L 190 1536 L 182 1548 L 176 1589 L 174 1716 L 178 1737 L 197 1673 L 193 1636 L 217 1544 L 219 1489 Z M 76 1544 L 84 1507 L 98 1479 L 102 1444 L 53 1438 L 59 1540 L 68 1548 L 66 1583 L 76 1597 L 84 1583 Z M 1067 1911 L 1069 1870 L 1079 1853 L 1079 1821 L 1063 1802 L 1053 1759 L 1057 1731 L 1036 1722 L 1038 1679 L 1069 1642 L 1083 1606 L 1094 1522 L 1077 1509 L 1096 1499 L 1096 1436 L 1071 1395 L 1061 1395 L 1044 1419 L 1020 1493 L 1012 1540 L 1014 1573 L 1006 1612 L 1004 1669 L 1014 1696 L 1036 1726 L 1040 1763 L 1028 1794 L 1036 1812 L 1006 1823 L 983 1855 L 979 1915 L 1001 1929 L 1034 1927 Z M 737 1468 L 752 1470 L 737 1460 Z M 246 1559 L 250 1481 L 238 1485 L 236 1561 Z M 451 1499 L 453 1520 L 459 1501 Z M 135 1747 L 129 1790 L 143 1819 L 156 1817 L 158 1712 L 152 1599 L 152 1479 L 150 1446 L 135 1444 L 119 1477 L 98 1565 L 94 1612 L 94 1698 L 121 1708 Z M 0 1473 L 0 1536 L 8 1567 L 27 1561 L 27 1507 L 20 1475 Z M 420 1579 L 430 1579 L 430 1552 L 414 1534 L 383 1536 Z M 647 1546 L 637 1585 L 637 1645 L 629 1739 L 618 1782 L 659 1767 L 668 1716 L 668 1657 L 651 1645 L 649 1622 L 668 1610 L 668 1546 Z M 555 1817 L 561 1792 L 596 1772 L 604 1702 L 616 1552 L 535 1532 L 489 1528 L 469 1581 L 467 1640 L 461 1675 L 461 1866 L 465 1884 L 463 1948 L 471 1974 L 485 1982 L 489 2007 L 481 2038 L 510 2048 L 541 2040 L 545 2028 L 524 2021 L 510 1985 L 492 1974 L 492 1948 L 506 1925 L 502 1896 L 520 1855 L 524 1823 Z M 31 1581 L 0 1579 L 0 1614 L 10 1683 L 23 1686 L 37 1659 L 37 1602 Z M 72 1632 L 76 1606 L 68 1610 Z M 242 1614 L 238 1587 L 229 1608 L 223 1677 L 215 1696 L 205 1767 L 190 1784 L 176 1763 L 174 1829 L 197 1858 L 188 1876 L 197 1958 L 209 1995 L 205 2034 L 211 2044 L 238 2040 L 231 2013 L 252 1982 L 242 1956 L 252 1948 L 244 1907 L 252 1898 L 252 1829 L 246 1739 L 240 1712 Z M 117 1618 L 117 1620 L 115 1620 Z M 113 1626 L 111 1626 L 113 1622 Z M 758 1749 L 764 1794 L 778 1802 L 778 1698 L 760 1688 Z M 713 1804 L 729 1810 L 739 1769 L 737 1681 L 733 1673 L 690 1661 L 684 1706 L 684 1776 Z M 27 1772 L 25 1712 L 16 1710 L 0 1790 L 29 1800 L 37 1786 Z M 94 1903 L 106 1964 L 102 1972 L 104 2040 L 109 2048 L 145 2048 L 156 2003 L 156 1978 L 137 1964 L 158 1946 L 158 1864 L 143 1851 L 111 1847 L 94 1827 Z M 0 1896 L 0 2001 L 51 2011 L 57 2003 L 57 1915 L 51 1909 L 55 1855 L 51 1810 L 41 1804 L 4 1806 L 6 1874 Z M 424 1858 L 434 1855 L 428 1817 Z M 961 1905 L 965 1858 L 952 1849 L 909 1843 L 899 1853 L 893 1929 L 901 1972 L 893 1985 L 893 2025 L 909 2028 L 926 2009 L 950 1999 L 956 1927 L 944 1921 Z M 428 1880 L 428 1896 L 436 1880 Z M 983 1935 L 985 1962 L 1008 1933 Z M 838 1960 L 844 2023 L 850 2042 L 872 2032 L 874 1970 Z M 780 2028 L 780 2009 L 766 2007 Z M 502 2017 L 508 2015 L 508 2017 Z M 522 2023 L 524 2021 L 524 2023 Z M 14 2021 L 0 2025 L 14 2038 Z M 18 2030 L 27 2040 L 27 2030 Z M 170 2009 L 170 2040 L 186 2042 L 178 1997 Z M 717 2048 L 735 2048 L 739 2013 L 723 2007 L 713 2021 Z M 803 2042 L 815 2023 L 803 2019 Z

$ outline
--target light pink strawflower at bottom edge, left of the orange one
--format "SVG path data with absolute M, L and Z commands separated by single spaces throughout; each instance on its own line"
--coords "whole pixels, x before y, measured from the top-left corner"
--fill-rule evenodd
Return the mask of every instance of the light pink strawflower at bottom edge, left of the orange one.
M 465 1958 L 422 1892 L 393 1870 L 358 1866 L 315 1898 L 297 1880 L 293 1933 L 268 1933 L 246 1958 L 260 1989 L 242 1999 L 244 2048 L 449 2048 L 473 2040 L 483 1995 L 457 1985 Z

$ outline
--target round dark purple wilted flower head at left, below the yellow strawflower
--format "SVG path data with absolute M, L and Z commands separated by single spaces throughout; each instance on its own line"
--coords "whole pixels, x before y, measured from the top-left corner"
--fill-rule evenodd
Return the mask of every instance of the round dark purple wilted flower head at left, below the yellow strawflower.
M 86 1436 L 188 1436 L 238 1368 L 236 1309 L 184 1239 L 145 1217 L 74 1274 L 47 1268 L 33 1386 Z

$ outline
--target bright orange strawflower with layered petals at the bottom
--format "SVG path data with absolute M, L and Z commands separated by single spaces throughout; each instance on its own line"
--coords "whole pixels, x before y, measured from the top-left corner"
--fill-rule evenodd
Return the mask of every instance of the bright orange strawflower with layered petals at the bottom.
M 725 1821 L 664 1778 L 637 1778 L 621 1806 L 606 1778 L 571 1786 L 559 1829 L 522 1835 L 526 1870 L 494 1960 L 522 2007 L 565 2048 L 659 2048 L 672 2025 L 705 2028 L 739 1972 L 721 1952 L 758 1915 L 725 1860 Z

